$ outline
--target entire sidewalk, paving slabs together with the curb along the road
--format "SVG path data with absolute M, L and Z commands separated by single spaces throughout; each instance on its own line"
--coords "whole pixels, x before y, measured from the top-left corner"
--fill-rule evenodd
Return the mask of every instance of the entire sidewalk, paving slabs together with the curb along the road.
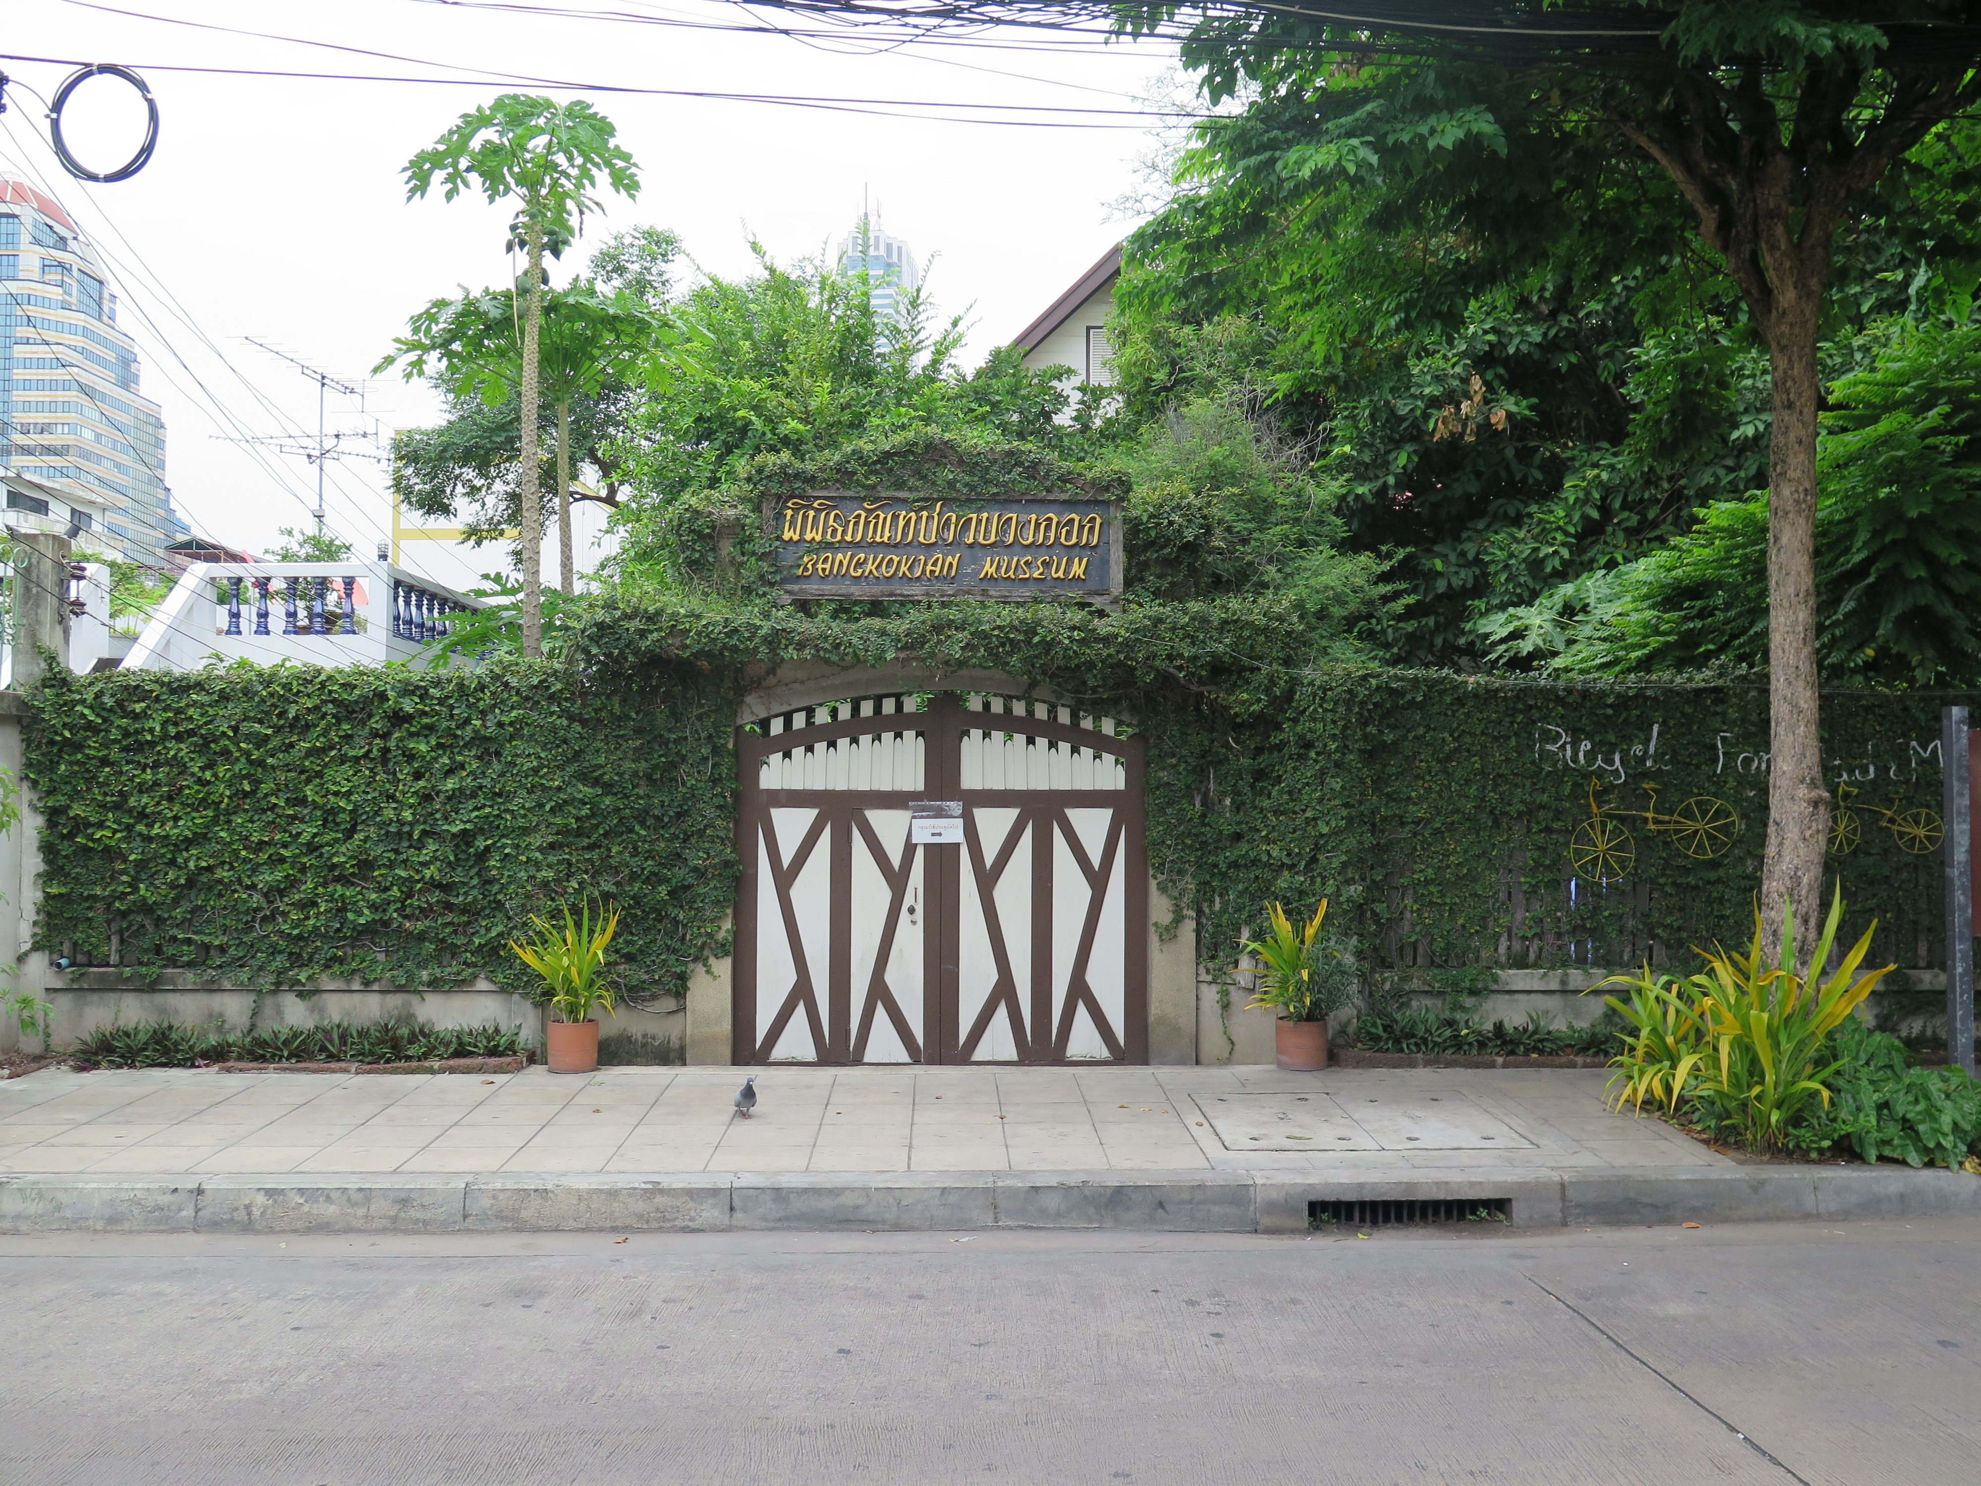
M 0 1084 L 0 1232 L 1117 1226 L 1305 1232 L 1981 1213 L 1981 1179 L 1737 1165 L 1599 1070 L 40 1072 Z M 1329 1209 L 1331 1203 L 1355 1207 Z

